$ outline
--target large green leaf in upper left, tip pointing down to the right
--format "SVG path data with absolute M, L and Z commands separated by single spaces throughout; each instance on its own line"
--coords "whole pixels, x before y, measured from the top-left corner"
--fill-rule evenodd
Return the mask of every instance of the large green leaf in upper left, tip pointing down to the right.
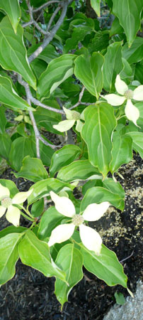
M 18 26 L 14 33 L 8 17 L 0 23 L 0 64 L 6 70 L 13 70 L 23 76 L 24 80 L 36 89 L 36 80 L 28 63 L 23 43 L 23 28 Z M 11 53 L 11 54 L 9 54 Z

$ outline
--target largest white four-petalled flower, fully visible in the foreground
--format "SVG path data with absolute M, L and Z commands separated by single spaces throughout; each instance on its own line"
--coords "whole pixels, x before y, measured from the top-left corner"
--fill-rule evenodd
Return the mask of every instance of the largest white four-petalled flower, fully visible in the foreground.
M 84 246 L 88 250 L 94 251 L 96 255 L 100 255 L 102 244 L 101 236 L 96 230 L 84 225 L 84 220 L 96 221 L 100 219 L 110 206 L 110 203 L 107 201 L 100 204 L 91 203 L 81 215 L 76 214 L 74 204 L 69 198 L 59 197 L 53 191 L 50 191 L 50 196 L 52 201 L 55 203 L 57 211 L 62 215 L 71 218 L 71 223 L 58 225 L 54 230 L 52 230 L 48 245 L 51 247 L 55 243 L 61 243 L 71 238 L 71 235 L 74 233 L 74 229 L 77 225 L 79 226 L 79 234 Z

